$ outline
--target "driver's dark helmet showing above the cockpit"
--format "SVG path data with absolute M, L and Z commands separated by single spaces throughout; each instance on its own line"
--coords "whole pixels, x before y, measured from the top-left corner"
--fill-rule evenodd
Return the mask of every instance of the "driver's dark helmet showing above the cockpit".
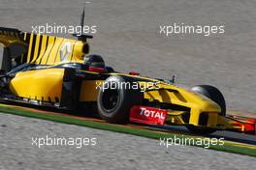
M 87 67 L 103 68 L 105 69 L 105 62 L 100 55 L 92 54 L 84 57 L 84 64 Z

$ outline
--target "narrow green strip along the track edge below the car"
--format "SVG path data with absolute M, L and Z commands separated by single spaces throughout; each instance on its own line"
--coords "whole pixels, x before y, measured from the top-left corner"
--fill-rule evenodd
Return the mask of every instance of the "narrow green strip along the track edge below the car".
M 101 122 L 95 122 L 92 120 L 81 120 L 78 118 L 63 116 L 63 115 L 59 115 L 59 114 L 27 111 L 27 110 L 12 108 L 12 106 L 0 106 L 0 111 L 5 112 L 5 113 L 20 115 L 20 116 L 54 121 L 54 122 L 58 122 L 58 123 L 65 123 L 65 124 L 78 125 L 78 126 L 88 127 L 88 128 L 98 128 L 98 129 L 103 129 L 103 130 L 111 130 L 111 131 L 115 131 L 115 132 L 128 133 L 128 134 L 133 134 L 133 135 L 138 135 L 138 136 L 143 136 L 143 137 L 158 139 L 158 140 L 160 138 L 174 139 L 175 136 L 178 138 L 192 138 L 193 137 L 193 136 L 189 136 L 189 135 L 160 132 L 160 131 L 144 129 L 144 128 L 131 128 L 131 127 L 126 127 L 126 126 L 106 124 L 106 123 L 101 123 Z M 160 143 L 160 141 L 159 141 L 159 143 Z M 196 145 L 196 144 L 194 146 L 204 147 L 204 146 Z M 223 152 L 228 152 L 228 153 L 235 153 L 235 154 L 240 154 L 240 155 L 246 155 L 246 156 L 256 156 L 256 147 L 247 148 L 247 147 L 243 147 L 243 146 L 235 146 L 235 145 L 232 145 L 230 142 L 225 142 L 223 146 L 210 145 L 208 149 L 223 151 Z

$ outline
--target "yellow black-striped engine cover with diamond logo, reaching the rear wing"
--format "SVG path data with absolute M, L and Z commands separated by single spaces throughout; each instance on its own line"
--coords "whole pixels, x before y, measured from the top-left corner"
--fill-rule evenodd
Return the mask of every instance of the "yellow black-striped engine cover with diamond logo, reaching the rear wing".
M 0 45 L 4 46 L 0 67 L 5 71 L 11 71 L 24 63 L 81 63 L 84 54 L 89 53 L 89 44 L 86 41 L 31 34 L 3 27 L 0 27 Z

